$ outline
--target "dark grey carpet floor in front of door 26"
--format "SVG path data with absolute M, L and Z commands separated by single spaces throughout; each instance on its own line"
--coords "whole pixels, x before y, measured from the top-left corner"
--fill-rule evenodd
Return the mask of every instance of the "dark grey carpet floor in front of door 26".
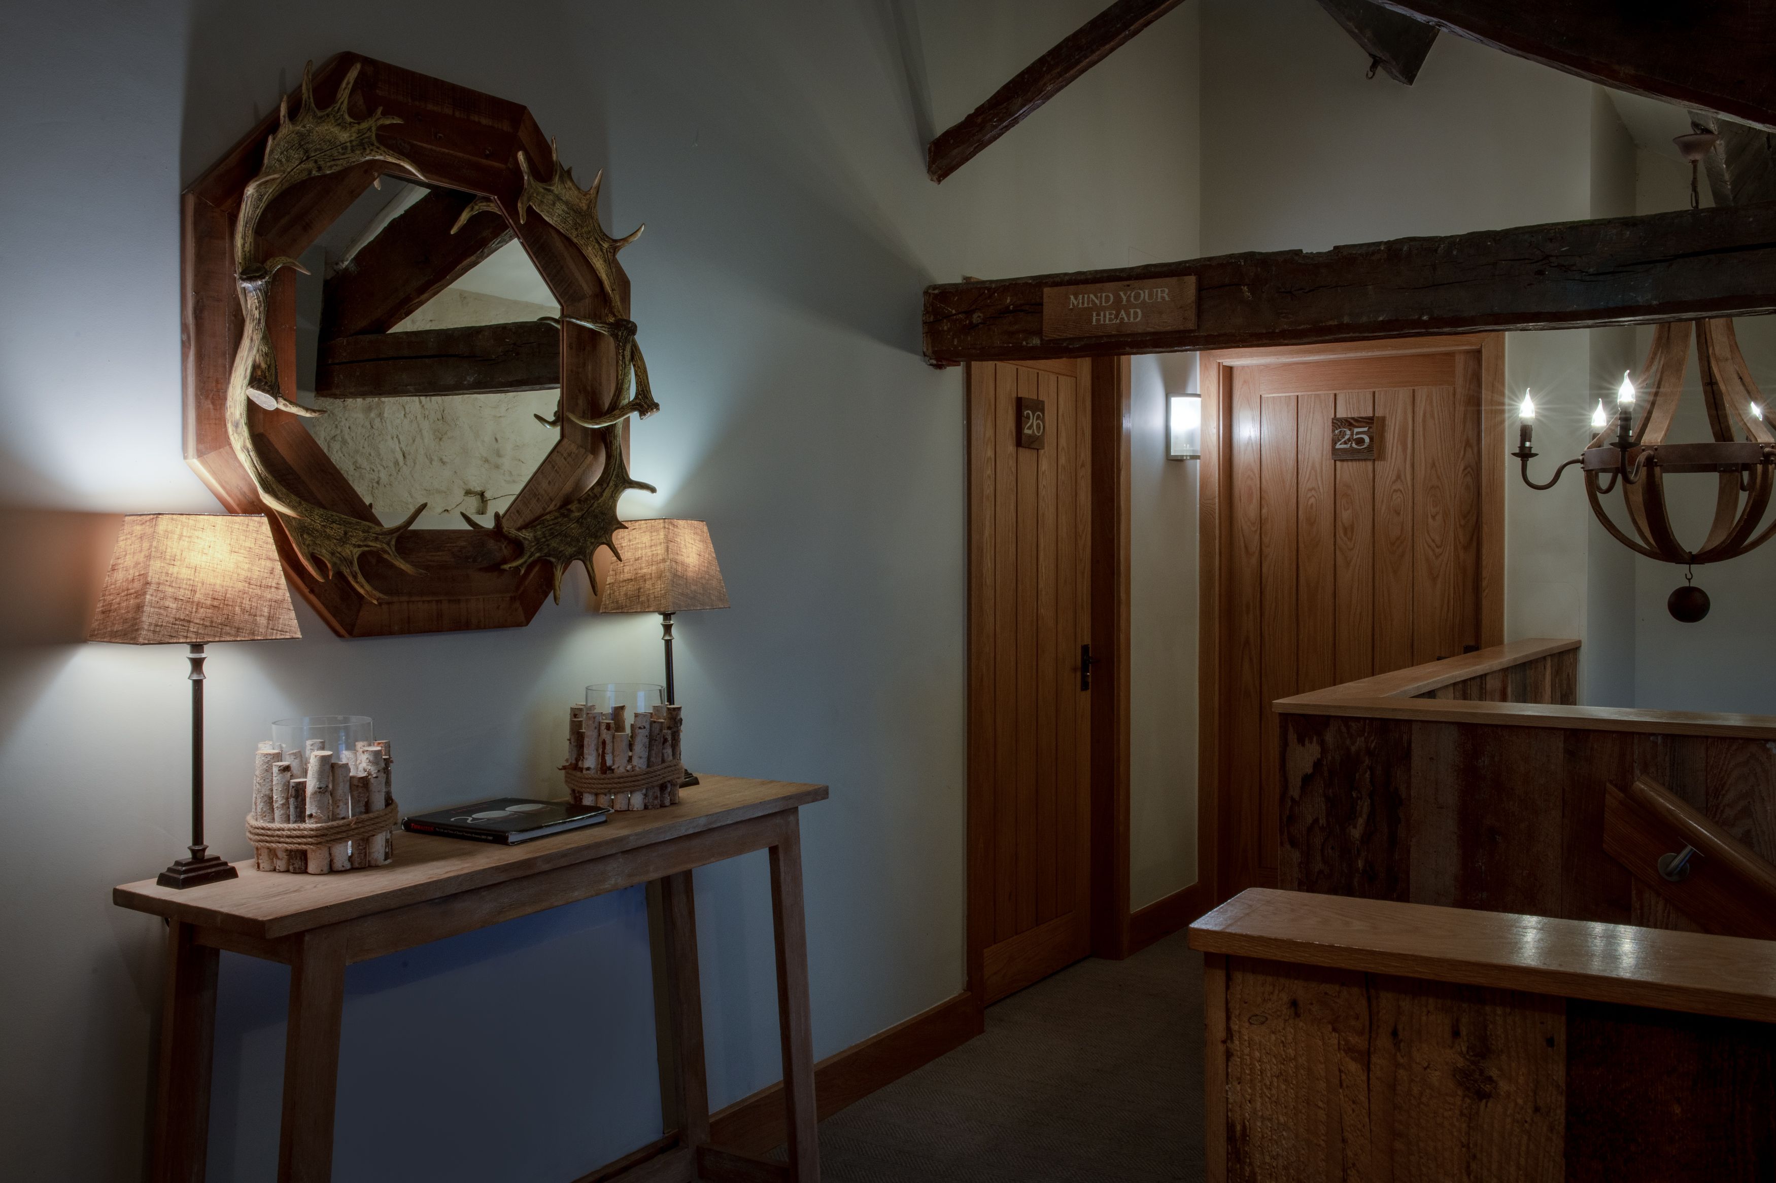
M 829 1183 L 1202 1178 L 1202 956 L 1183 933 L 1080 961 L 986 1020 L 821 1123 Z

